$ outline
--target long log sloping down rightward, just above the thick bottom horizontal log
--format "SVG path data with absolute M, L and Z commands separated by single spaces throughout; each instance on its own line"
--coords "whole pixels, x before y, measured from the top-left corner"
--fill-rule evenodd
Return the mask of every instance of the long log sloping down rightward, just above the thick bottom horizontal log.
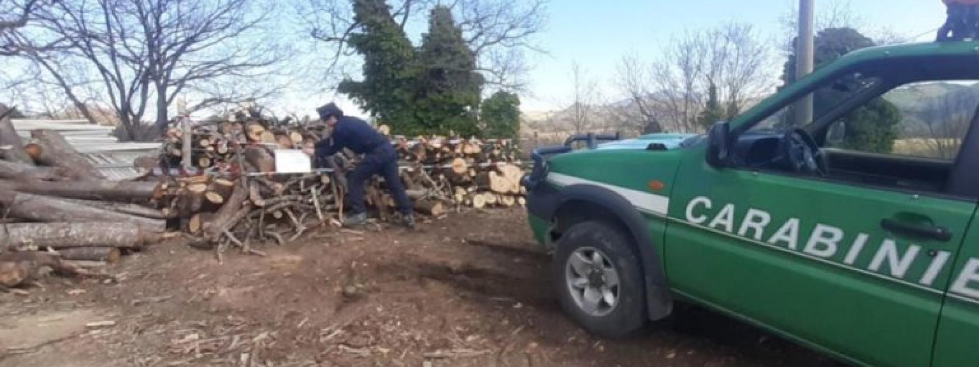
M 0 189 L 0 205 L 10 216 L 39 222 L 121 222 L 152 232 L 163 232 L 166 222 L 123 214 L 116 211 L 82 206 L 69 201 L 40 195 Z M 92 226 L 93 228 L 98 228 Z M 105 230 L 105 228 L 102 228 Z

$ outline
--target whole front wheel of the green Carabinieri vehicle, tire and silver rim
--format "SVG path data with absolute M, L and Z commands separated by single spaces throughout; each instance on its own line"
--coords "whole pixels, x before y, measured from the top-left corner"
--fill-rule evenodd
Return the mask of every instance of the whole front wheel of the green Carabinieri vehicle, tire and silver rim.
M 621 338 L 645 323 L 645 288 L 639 257 L 619 228 L 598 221 L 561 236 L 553 274 L 561 306 L 584 330 Z

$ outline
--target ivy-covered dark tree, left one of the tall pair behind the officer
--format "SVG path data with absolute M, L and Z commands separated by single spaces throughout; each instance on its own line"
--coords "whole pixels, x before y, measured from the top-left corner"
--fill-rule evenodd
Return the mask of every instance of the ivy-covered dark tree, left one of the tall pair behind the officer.
M 350 46 L 363 55 L 363 80 L 344 80 L 339 91 L 371 115 L 387 121 L 396 133 L 417 131 L 415 83 L 421 69 L 415 50 L 391 16 L 385 0 L 352 0 L 358 32 Z

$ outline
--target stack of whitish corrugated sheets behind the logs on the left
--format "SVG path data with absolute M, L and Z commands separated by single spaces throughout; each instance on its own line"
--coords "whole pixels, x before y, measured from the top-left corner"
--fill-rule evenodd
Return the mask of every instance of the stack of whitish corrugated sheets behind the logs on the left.
M 12 119 L 14 129 L 24 141 L 30 130 L 58 131 L 69 144 L 85 156 L 111 180 L 126 180 L 139 175 L 133 161 L 140 156 L 157 155 L 161 143 L 120 143 L 113 136 L 115 128 L 88 123 L 85 119 Z

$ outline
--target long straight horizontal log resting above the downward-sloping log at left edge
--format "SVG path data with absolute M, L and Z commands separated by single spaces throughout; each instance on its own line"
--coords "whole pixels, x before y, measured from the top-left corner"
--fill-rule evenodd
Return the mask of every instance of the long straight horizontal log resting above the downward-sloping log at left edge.
M 108 202 L 147 201 L 157 194 L 157 182 L 134 181 L 12 181 L 0 180 L 0 190 L 59 198 L 100 200 Z

